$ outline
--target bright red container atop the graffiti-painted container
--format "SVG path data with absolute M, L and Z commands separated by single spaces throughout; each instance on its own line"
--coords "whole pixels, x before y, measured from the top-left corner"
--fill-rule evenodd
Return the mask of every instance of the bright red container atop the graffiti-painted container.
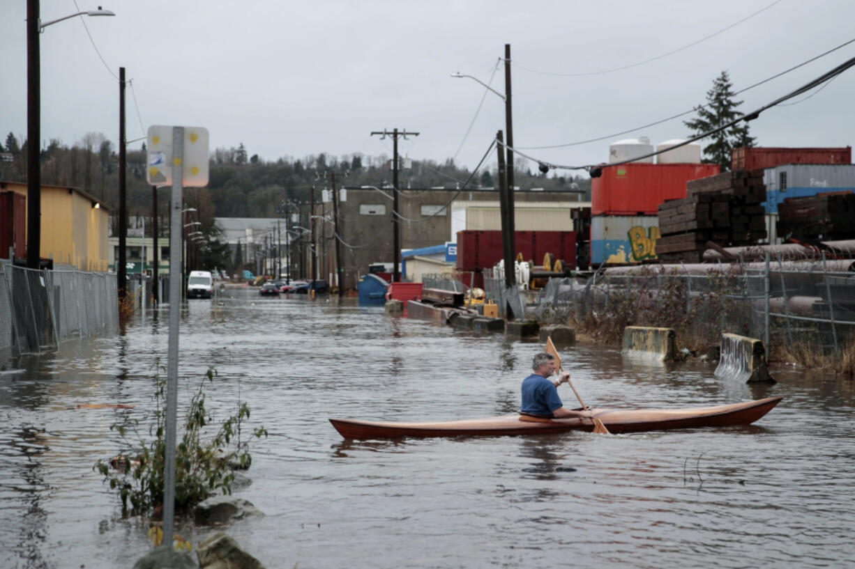
M 715 176 L 718 164 L 621 164 L 591 180 L 592 215 L 657 215 L 665 200 L 686 197 L 686 182 Z

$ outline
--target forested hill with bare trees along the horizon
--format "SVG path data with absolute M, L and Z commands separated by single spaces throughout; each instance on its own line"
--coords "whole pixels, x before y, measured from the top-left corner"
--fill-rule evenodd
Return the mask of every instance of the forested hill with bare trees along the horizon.
M 0 152 L 12 155 L 12 161 L 0 162 L 0 179 L 24 181 L 27 173 L 27 144 L 12 133 L 3 141 Z M 115 147 L 103 134 L 90 133 L 73 146 L 57 140 L 41 152 L 42 183 L 78 187 L 107 202 L 117 210 L 118 157 Z M 209 186 L 201 191 L 186 191 L 194 207 L 199 206 L 203 221 L 218 217 L 274 217 L 281 202 L 309 202 L 310 189 L 330 186 L 328 173 L 336 173 L 336 185 L 391 185 L 390 156 L 352 154 L 331 156 L 308 155 L 304 158 L 285 156 L 276 161 L 262 161 L 248 155 L 243 144 L 237 148 L 216 149 L 211 154 Z M 544 190 L 578 189 L 590 197 L 590 179 L 565 178 L 551 173 L 545 176 L 531 172 L 530 162 L 517 161 L 515 185 Z M 128 214 L 150 216 L 151 187 L 145 181 L 144 147 L 127 151 Z M 492 187 L 497 183 L 495 162 L 491 169 L 475 175 L 469 186 Z M 347 173 L 345 176 L 344 173 Z M 326 177 L 324 174 L 327 174 Z M 471 171 L 457 167 L 453 161 L 413 160 L 411 167 L 399 173 L 402 189 L 462 186 Z M 320 200 L 319 192 L 315 200 Z M 159 214 L 167 209 L 166 199 L 158 204 Z

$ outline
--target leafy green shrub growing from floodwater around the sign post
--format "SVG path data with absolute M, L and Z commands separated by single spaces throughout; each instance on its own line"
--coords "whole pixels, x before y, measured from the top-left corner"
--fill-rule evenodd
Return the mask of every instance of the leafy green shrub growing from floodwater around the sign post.
M 184 421 L 184 435 L 175 449 L 175 511 L 189 510 L 216 492 L 232 493 L 235 470 L 251 465 L 249 440 L 241 439 L 241 426 L 250 418 L 245 402 L 238 402 L 237 412 L 224 420 L 213 437 L 203 438 L 203 429 L 212 423 L 205 408 L 204 386 L 213 383 L 215 369 L 204 373 L 192 397 Z M 157 511 L 163 504 L 163 466 L 166 461 L 166 379 L 155 375 L 155 421 L 149 428 L 148 442 L 140 436 L 139 420 L 125 415 L 121 422 L 110 425 L 125 443 L 127 451 L 110 460 L 98 460 L 97 470 L 121 498 L 122 513 L 144 515 Z M 251 438 L 267 437 L 259 427 Z

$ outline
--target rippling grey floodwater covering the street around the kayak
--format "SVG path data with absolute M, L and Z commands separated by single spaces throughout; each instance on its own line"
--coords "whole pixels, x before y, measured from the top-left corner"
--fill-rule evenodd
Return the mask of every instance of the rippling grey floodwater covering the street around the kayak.
M 156 318 L 155 318 L 156 316 Z M 132 566 L 148 525 L 91 470 L 109 426 L 146 423 L 168 312 L 0 372 L 0 567 Z M 780 395 L 757 424 L 625 436 L 345 441 L 328 417 L 431 420 L 516 410 L 538 343 L 476 336 L 338 299 L 226 290 L 181 322 L 180 402 L 240 396 L 264 425 L 235 492 L 265 516 L 225 528 L 274 567 L 844 567 L 855 560 L 853 382 L 793 368 L 733 384 L 701 362 L 563 349 L 592 406 L 678 408 Z M 566 391 L 564 391 L 566 390 Z M 573 404 L 572 392 L 560 390 Z M 133 410 L 78 409 L 133 403 Z M 194 543 L 205 528 L 180 525 Z

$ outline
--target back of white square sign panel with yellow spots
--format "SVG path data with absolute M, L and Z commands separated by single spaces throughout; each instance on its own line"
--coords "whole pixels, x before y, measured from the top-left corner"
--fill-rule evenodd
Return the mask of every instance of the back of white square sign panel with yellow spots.
M 172 150 L 173 128 L 149 126 L 145 179 L 150 185 L 172 185 L 173 166 L 180 166 L 181 185 L 208 185 L 208 129 L 203 126 L 185 126 L 183 156 L 175 156 Z

